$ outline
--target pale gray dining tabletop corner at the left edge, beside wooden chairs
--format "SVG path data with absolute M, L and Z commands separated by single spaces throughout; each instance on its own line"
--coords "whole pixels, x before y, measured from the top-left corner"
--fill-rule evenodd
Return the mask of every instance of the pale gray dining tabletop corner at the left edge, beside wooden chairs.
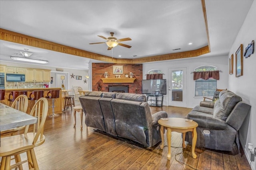
M 36 117 L 0 103 L 0 131 L 36 122 Z

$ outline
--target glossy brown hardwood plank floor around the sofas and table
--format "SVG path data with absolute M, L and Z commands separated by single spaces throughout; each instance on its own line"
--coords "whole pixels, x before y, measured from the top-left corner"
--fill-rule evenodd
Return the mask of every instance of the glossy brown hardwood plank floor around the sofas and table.
M 184 117 L 191 109 L 182 107 L 150 107 L 152 113 L 166 111 L 168 117 Z M 72 112 L 65 111 L 60 116 L 47 117 L 44 135 L 46 141 L 35 148 L 36 158 L 41 170 L 249 170 L 250 166 L 244 154 L 238 153 L 234 146 L 232 152 L 220 152 L 196 147 L 197 158 L 192 158 L 191 146 L 182 146 L 180 133 L 172 132 L 171 160 L 167 160 L 167 147 L 154 150 L 118 141 L 112 137 L 97 133 L 91 127 L 80 129 L 80 116 L 76 115 L 76 127 L 73 127 Z M 166 138 L 166 134 L 165 134 Z M 167 145 L 165 139 L 165 146 Z M 180 153 L 180 154 L 179 154 Z M 176 155 L 177 154 L 177 155 Z M 22 160 L 26 158 L 22 154 Z M 183 162 L 183 163 L 180 163 Z M 192 167 L 192 168 L 191 168 Z M 28 169 L 23 164 L 24 170 Z

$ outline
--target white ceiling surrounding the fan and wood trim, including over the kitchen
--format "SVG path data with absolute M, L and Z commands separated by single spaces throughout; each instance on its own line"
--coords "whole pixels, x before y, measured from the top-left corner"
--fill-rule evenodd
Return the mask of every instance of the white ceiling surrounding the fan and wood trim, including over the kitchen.
M 206 0 L 211 53 L 228 55 L 253 0 Z M 117 46 L 114 58 L 134 59 L 190 51 L 208 45 L 200 0 L 0 0 L 0 27 L 40 39 L 112 57 L 98 37 L 114 32 L 130 37 L 130 49 Z M 188 43 L 192 42 L 192 45 Z M 1 61 L 23 49 L 47 66 L 88 69 L 84 57 L 0 41 Z M 178 49 L 173 51 L 173 49 Z M 118 57 L 121 55 L 121 57 Z M 133 57 L 137 55 L 137 57 Z

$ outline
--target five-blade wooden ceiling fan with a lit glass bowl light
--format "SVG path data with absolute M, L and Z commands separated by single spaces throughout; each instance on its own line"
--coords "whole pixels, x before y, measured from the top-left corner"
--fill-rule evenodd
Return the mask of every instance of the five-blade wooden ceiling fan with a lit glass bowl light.
M 126 48 L 131 48 L 132 46 L 130 45 L 126 45 L 126 44 L 123 44 L 123 43 L 119 43 L 121 41 L 130 41 L 132 39 L 130 39 L 129 37 L 128 38 L 122 38 L 122 39 L 117 39 L 116 37 L 114 37 L 114 32 L 110 32 L 110 36 L 111 37 L 103 37 L 101 35 L 98 35 L 99 37 L 103 38 L 103 39 L 106 39 L 107 41 L 106 42 L 100 42 L 100 43 L 90 43 L 90 44 L 102 44 L 102 43 L 106 43 L 108 45 L 108 50 L 111 50 L 112 48 L 116 47 L 117 45 L 121 45 L 123 47 L 126 47 Z

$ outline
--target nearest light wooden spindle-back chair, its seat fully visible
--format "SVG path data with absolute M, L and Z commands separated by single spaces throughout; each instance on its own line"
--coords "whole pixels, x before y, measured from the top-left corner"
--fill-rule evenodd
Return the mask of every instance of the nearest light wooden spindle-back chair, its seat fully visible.
M 1 138 L 0 156 L 2 157 L 2 162 L 0 170 L 17 168 L 26 162 L 28 162 L 29 169 L 39 169 L 34 147 L 42 145 L 45 141 L 43 133 L 47 113 L 48 101 L 46 98 L 40 98 L 30 112 L 30 115 L 37 117 L 37 123 L 33 125 L 33 132 L 28 133 L 30 125 L 26 125 L 24 134 Z M 10 165 L 11 156 L 20 155 L 24 152 L 27 154 L 27 160 L 22 161 L 18 156 L 16 163 Z

